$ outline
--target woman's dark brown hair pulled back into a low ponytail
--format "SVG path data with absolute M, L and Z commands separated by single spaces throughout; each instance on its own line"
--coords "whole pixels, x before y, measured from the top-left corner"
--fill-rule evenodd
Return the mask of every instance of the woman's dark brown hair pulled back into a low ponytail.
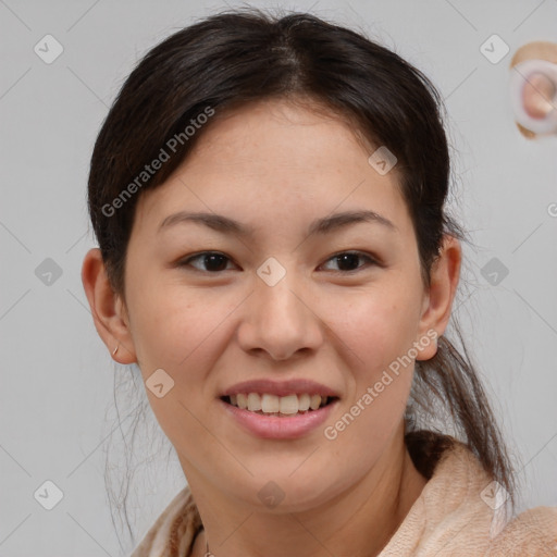
M 445 209 L 450 164 L 443 101 L 419 70 L 363 34 L 308 13 L 227 10 L 178 30 L 145 55 L 95 144 L 88 208 L 109 278 L 124 300 L 126 247 L 139 196 L 164 183 L 220 114 L 273 97 L 326 108 L 370 146 L 386 146 L 397 157 L 398 187 L 412 219 L 425 286 L 444 235 L 467 240 Z M 172 143 L 169 160 L 114 209 L 113 200 L 137 184 L 145 164 L 208 108 L 214 111 L 210 121 L 188 140 Z M 457 323 L 454 329 L 465 346 Z M 416 362 L 407 411 L 412 458 L 413 448 L 425 444 L 430 463 L 450 444 L 428 433 L 428 411 L 434 407 L 446 412 L 455 436 L 512 497 L 507 449 L 476 370 L 466 347 L 460 354 L 445 336 L 434 358 Z M 429 463 L 417 466 L 428 470 Z

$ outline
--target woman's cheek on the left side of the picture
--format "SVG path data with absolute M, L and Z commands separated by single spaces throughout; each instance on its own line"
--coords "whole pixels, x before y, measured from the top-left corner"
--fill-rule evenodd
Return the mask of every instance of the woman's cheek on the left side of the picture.
M 147 278 L 129 295 L 133 341 L 151 409 L 178 449 L 207 435 L 200 425 L 210 396 L 207 376 L 222 349 L 224 329 L 219 325 L 225 326 L 234 305 L 183 285 L 156 286 Z M 168 376 L 154 375 L 160 369 Z M 151 389 L 159 376 L 164 391 L 172 385 L 162 397 Z

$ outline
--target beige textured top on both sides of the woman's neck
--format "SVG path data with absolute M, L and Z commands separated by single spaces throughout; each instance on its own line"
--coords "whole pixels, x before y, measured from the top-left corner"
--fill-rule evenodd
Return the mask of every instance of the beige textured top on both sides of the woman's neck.
M 494 485 L 465 445 L 445 450 L 379 557 L 557 556 L 557 507 L 537 507 L 506 521 L 505 492 Z M 186 486 L 131 557 L 190 557 L 200 530 Z

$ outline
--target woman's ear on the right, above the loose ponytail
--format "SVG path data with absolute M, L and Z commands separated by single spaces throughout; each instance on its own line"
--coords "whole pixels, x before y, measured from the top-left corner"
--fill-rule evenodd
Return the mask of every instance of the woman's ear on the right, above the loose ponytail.
M 431 338 L 433 331 L 436 333 L 436 341 L 445 332 L 460 278 L 461 261 L 460 243 L 454 236 L 446 234 L 443 238 L 441 253 L 432 264 L 431 285 L 424 296 L 417 342 L 420 338 Z M 422 341 L 421 345 L 423 346 L 423 344 Z M 437 343 L 430 342 L 425 348 L 419 351 L 416 359 L 429 360 L 435 356 L 436 351 Z

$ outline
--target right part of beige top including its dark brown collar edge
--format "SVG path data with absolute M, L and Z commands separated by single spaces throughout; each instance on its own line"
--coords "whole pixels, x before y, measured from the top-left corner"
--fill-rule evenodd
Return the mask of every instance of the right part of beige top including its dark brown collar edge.
M 425 433 L 411 441 L 428 483 L 381 557 L 557 557 L 557 508 L 511 518 L 511 506 L 498 502 L 493 478 L 469 447 Z

